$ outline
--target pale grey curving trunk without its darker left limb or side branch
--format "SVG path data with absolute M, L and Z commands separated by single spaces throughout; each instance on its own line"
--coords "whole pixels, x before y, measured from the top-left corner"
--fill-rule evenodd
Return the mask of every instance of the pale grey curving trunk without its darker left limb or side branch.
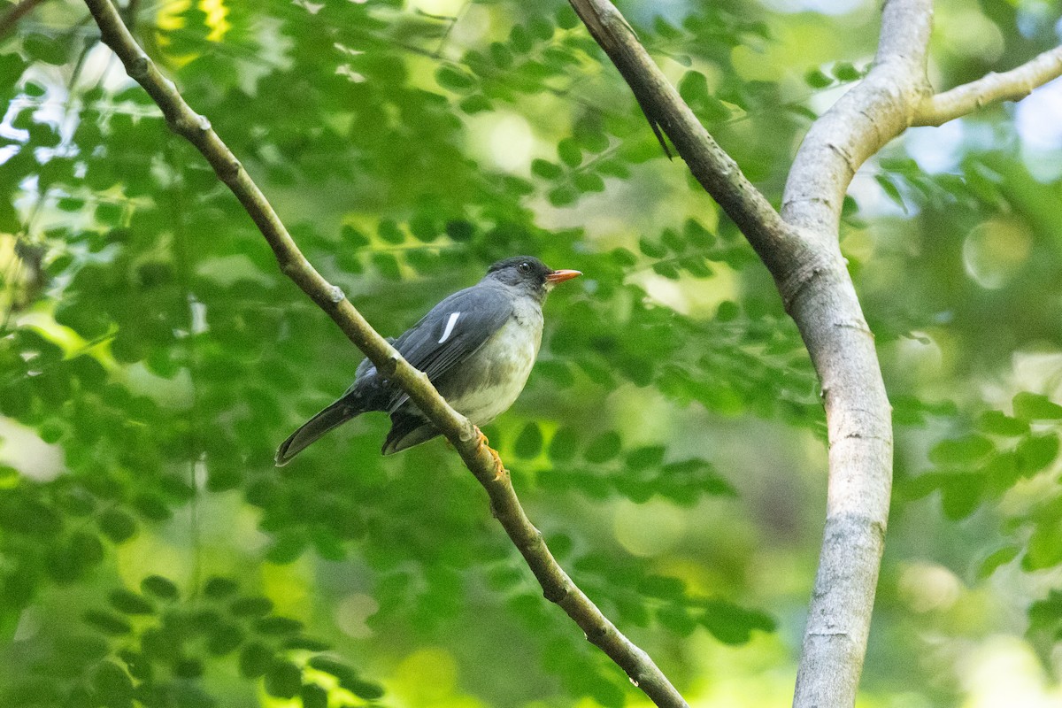
M 824 287 L 788 300 L 822 377 L 829 431 L 826 528 L 793 695 L 800 708 L 850 708 L 867 651 L 892 485 L 891 408 L 837 235 L 855 171 L 907 128 L 927 92 L 931 23 L 931 0 L 887 0 L 874 67 L 812 124 L 783 198 L 783 218 L 813 232 L 835 264 Z

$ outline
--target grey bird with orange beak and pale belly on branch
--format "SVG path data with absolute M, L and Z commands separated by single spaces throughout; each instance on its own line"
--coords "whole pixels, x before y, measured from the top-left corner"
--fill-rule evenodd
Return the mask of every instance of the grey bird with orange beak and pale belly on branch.
M 453 410 L 477 428 L 484 426 L 508 411 L 524 391 L 542 344 L 546 295 L 580 275 L 554 271 L 533 256 L 507 258 L 491 265 L 478 283 L 433 307 L 392 345 L 427 374 Z M 409 396 L 365 359 L 350 387 L 280 444 L 277 467 L 337 426 L 371 411 L 391 415 L 384 455 L 440 434 Z

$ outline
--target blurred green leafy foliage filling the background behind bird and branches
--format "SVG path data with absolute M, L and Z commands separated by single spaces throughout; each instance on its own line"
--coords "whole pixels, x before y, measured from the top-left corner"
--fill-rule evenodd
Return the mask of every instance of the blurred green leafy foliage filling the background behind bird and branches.
M 939 4 L 944 87 L 1058 40 L 1044 3 Z M 623 10 L 774 201 L 876 32 L 873 3 Z M 381 333 L 501 257 L 586 274 L 487 434 L 558 558 L 684 693 L 785 701 L 821 530 L 817 381 L 570 8 L 173 1 L 135 27 Z M 370 416 L 273 466 L 360 357 L 83 6 L 42 4 L 0 52 L 0 704 L 640 700 L 442 443 L 383 460 Z M 867 705 L 970 693 L 928 645 L 1010 634 L 1057 669 L 1062 191 L 1043 166 L 1062 155 L 1016 123 L 914 131 L 845 203 L 897 426 Z

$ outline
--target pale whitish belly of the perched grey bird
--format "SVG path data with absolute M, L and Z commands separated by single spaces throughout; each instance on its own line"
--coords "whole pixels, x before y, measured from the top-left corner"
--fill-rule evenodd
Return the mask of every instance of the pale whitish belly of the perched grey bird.
M 464 362 L 461 380 L 475 383 L 455 385 L 455 391 L 443 394 L 456 411 L 484 426 L 509 410 L 538 356 L 542 325 L 536 324 L 520 326 L 516 318 L 510 320 Z

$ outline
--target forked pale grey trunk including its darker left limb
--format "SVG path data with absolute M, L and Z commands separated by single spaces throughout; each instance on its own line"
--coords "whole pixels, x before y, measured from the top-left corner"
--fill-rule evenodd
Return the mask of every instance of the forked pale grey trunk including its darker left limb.
M 774 276 L 822 381 L 829 431 L 827 518 L 794 706 L 855 703 L 892 483 L 889 401 L 838 246 L 859 166 L 910 124 L 925 93 L 929 0 L 887 0 L 875 67 L 811 126 L 794 160 L 782 223 L 693 118 L 607 0 L 569 0 L 646 115 L 738 224 Z

